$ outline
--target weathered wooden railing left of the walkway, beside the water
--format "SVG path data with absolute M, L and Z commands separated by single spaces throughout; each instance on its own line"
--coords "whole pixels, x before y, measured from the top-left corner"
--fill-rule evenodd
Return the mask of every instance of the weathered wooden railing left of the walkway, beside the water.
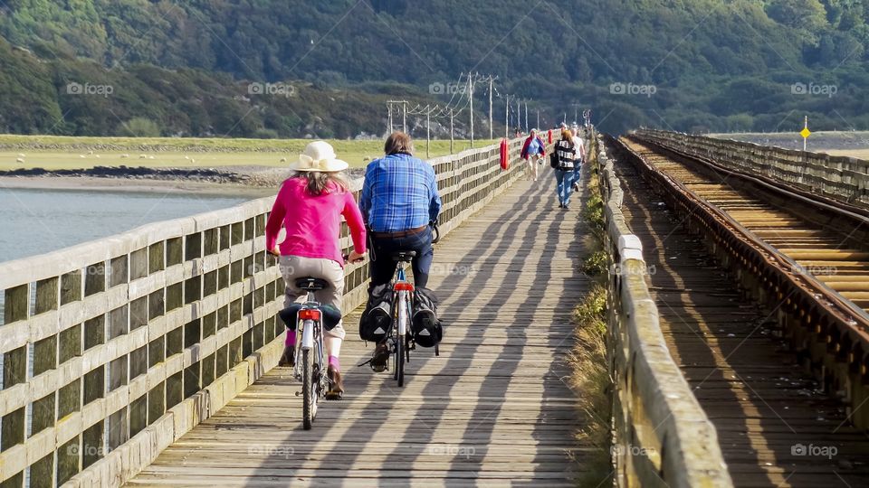
M 498 145 L 435 158 L 448 233 L 507 189 Z M 358 190 L 357 182 L 357 190 Z M 0 264 L 0 482 L 117 486 L 270 370 L 284 285 L 272 198 Z M 344 249 L 351 246 L 347 226 Z M 368 267 L 346 269 L 344 307 Z

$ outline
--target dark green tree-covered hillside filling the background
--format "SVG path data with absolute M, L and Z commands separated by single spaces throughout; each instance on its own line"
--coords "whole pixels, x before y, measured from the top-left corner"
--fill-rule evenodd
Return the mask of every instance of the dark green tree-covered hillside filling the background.
M 869 0 L 7 0 L 0 14 L 3 132 L 380 134 L 387 99 L 443 105 L 429 86 L 469 70 L 549 123 L 579 103 L 615 132 L 804 115 L 869 128 Z

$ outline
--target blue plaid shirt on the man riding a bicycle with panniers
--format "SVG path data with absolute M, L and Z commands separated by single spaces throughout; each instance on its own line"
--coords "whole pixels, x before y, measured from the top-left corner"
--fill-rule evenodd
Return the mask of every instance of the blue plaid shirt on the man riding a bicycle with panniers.
M 359 210 L 374 232 L 427 225 L 441 212 L 435 169 L 412 155 L 387 155 L 368 164 Z

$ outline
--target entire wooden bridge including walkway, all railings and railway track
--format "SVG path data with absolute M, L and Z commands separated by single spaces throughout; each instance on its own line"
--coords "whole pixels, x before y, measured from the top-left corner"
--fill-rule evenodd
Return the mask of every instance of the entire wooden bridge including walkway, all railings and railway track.
M 801 174 L 799 155 L 645 135 L 669 145 L 660 149 L 666 157 L 644 159 L 610 141 L 620 164 L 635 165 L 632 173 L 616 166 L 601 142 L 600 172 L 586 171 L 584 180 L 600 186 L 599 237 L 611 265 L 613 470 L 600 474 L 601 482 L 862 485 L 869 476 L 869 339 L 855 324 L 869 324 L 857 306 L 869 303 L 869 254 L 860 250 L 869 227 L 838 226 L 850 230 L 855 249 L 831 254 L 841 258 L 843 273 L 824 286 L 787 256 L 769 259 L 779 266 L 770 270 L 757 249 L 765 256 L 776 249 L 748 232 L 742 242 L 755 240 L 743 246 L 727 226 L 713 225 L 724 221 L 741 231 L 728 220 L 739 212 L 710 218 L 715 209 L 707 199 L 668 187 L 683 188 L 676 181 L 682 178 L 708 190 L 708 182 L 673 163 L 711 158 L 766 178 L 767 186 L 789 183 L 799 198 L 786 206 L 829 210 L 839 202 L 851 209 L 839 212 L 839 221 L 869 223 L 865 163 L 818 156 L 807 159 L 810 174 Z M 510 142 L 513 162 L 521 142 Z M 673 156 L 682 147 L 693 153 Z M 372 348 L 358 341 L 358 311 L 351 312 L 341 358 L 347 394 L 321 404 L 310 431 L 301 428 L 298 383 L 276 367 L 283 283 L 264 249 L 270 199 L 0 264 L 2 488 L 588 480 L 588 461 L 600 458 L 600 448 L 576 438 L 584 392 L 568 389 L 567 355 L 575 342 L 572 310 L 590 286 L 579 271 L 589 228 L 580 205 L 558 208 L 548 168 L 538 183 L 520 181 L 521 166 L 501 170 L 499 154 L 490 146 L 431 161 L 444 201 L 445 237 L 430 282 L 447 324 L 441 356 L 415 351 L 403 388 L 387 373 L 357 368 Z M 653 160 L 671 174 L 647 164 Z M 638 174 L 666 203 L 639 192 Z M 731 210 L 773 201 L 734 192 L 726 193 Z M 670 209 L 682 211 L 687 226 L 673 221 Z M 829 231 L 818 227 L 810 244 L 828 243 Z M 666 239 L 678 242 L 662 245 Z M 367 280 L 365 265 L 349 265 L 345 308 L 363 302 Z M 737 306 L 740 314 L 732 312 Z M 752 337 L 761 328 L 779 343 Z M 814 455 L 818 449 L 841 455 Z

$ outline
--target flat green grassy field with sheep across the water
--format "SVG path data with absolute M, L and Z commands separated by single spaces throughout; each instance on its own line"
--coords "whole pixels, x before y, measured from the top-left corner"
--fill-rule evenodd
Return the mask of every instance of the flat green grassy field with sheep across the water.
M 213 167 L 283 166 L 296 160 L 306 139 L 201 139 L 136 137 L 0 136 L 0 170 L 21 168 L 85 169 L 93 166 Z M 330 140 L 339 158 L 351 166 L 383 155 L 383 141 Z M 493 141 L 474 141 L 475 147 Z M 454 152 L 469 148 L 455 141 Z M 37 148 L 38 147 L 38 148 Z M 425 158 L 425 140 L 415 140 Z M 450 141 L 432 141 L 431 157 L 450 154 Z M 24 156 L 22 156 L 24 155 Z M 286 158 L 286 162 L 282 162 Z M 24 163 L 19 162 L 21 159 Z

